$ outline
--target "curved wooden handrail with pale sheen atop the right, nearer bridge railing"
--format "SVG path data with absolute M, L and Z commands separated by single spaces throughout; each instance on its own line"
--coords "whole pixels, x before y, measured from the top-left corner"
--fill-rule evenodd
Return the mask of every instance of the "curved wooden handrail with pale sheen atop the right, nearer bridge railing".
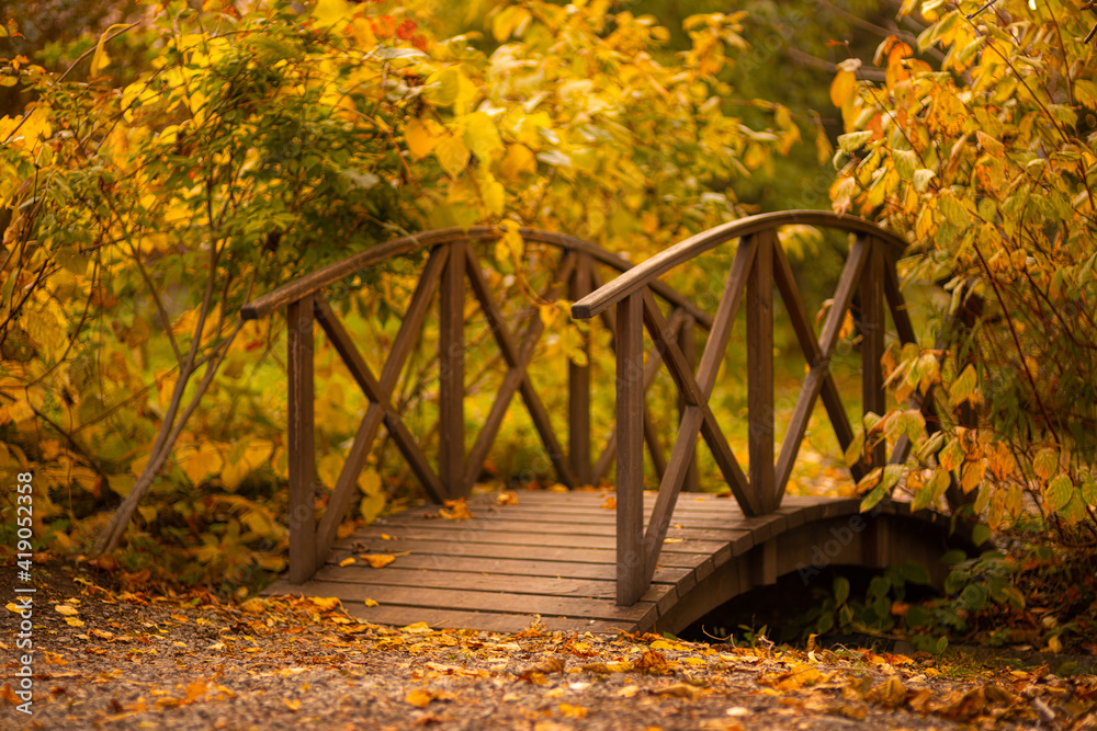
M 644 285 L 656 286 L 658 277 L 679 264 L 733 239 L 760 233 L 782 226 L 824 226 L 850 233 L 864 233 L 902 252 L 907 242 L 877 224 L 859 216 L 842 216 L 829 210 L 781 210 L 740 218 L 702 231 L 629 270 L 572 306 L 572 317 L 587 320 L 604 312 Z M 661 293 L 660 293 L 661 294 Z

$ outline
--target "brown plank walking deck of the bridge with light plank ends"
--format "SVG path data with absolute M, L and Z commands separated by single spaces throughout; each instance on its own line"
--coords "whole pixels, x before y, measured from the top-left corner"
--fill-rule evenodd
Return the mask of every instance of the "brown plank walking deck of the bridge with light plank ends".
M 646 631 L 699 582 L 722 567 L 727 571 L 736 557 L 749 559 L 736 570 L 751 575 L 733 583 L 769 583 L 758 579 L 764 552 L 751 548 L 812 522 L 850 516 L 859 502 L 789 495 L 776 513 L 748 518 L 734 500 L 683 493 L 651 587 L 622 607 L 615 602 L 612 494 L 519 492 L 517 505 L 477 495 L 468 501 L 473 519 L 464 521 L 439 517 L 437 506 L 411 509 L 337 541 L 308 582 L 283 579 L 267 593 L 338 596 L 352 615 L 377 624 L 520 631 L 540 615 L 548 629 Z M 646 492 L 646 514 L 654 503 L 655 493 Z M 363 553 L 397 558 L 381 569 L 361 558 L 339 566 Z M 367 606 L 366 599 L 377 605 Z

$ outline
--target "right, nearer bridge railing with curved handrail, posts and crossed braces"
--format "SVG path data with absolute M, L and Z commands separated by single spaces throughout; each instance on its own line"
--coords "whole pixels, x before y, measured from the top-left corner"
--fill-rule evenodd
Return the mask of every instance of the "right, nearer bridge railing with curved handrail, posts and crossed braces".
M 782 249 L 778 230 L 813 226 L 855 235 L 822 332 L 816 336 L 803 297 Z M 659 277 L 700 254 L 738 241 L 723 294 L 713 317 L 704 352 L 693 367 L 675 329 L 654 295 Z M 853 429 L 842 404 L 830 359 L 841 324 L 859 294 L 862 333 L 861 391 L 866 412 L 886 409 L 881 358 L 884 353 L 885 304 L 901 341 L 915 342 L 915 332 L 900 292 L 895 261 L 906 243 L 877 225 L 828 212 L 791 210 L 764 214 L 710 229 L 652 256 L 577 301 L 572 313 L 589 319 L 615 312 L 617 320 L 617 540 L 618 603 L 636 602 L 651 584 L 678 494 L 682 489 L 698 436 L 703 436 L 735 500 L 746 515 L 771 513 L 781 505 L 807 422 L 822 397 L 842 450 Z M 773 286 L 777 286 L 808 372 L 774 461 L 773 423 Z M 746 299 L 747 402 L 749 467 L 745 472 L 721 430 L 709 399 L 727 351 L 740 302 Z M 654 350 L 644 358 L 644 330 Z M 645 370 L 667 366 L 685 404 L 667 467 L 651 517 L 644 524 L 643 424 Z M 891 461 L 906 459 L 909 441 L 894 445 Z M 852 468 L 860 479 L 871 466 L 885 462 L 882 441 Z

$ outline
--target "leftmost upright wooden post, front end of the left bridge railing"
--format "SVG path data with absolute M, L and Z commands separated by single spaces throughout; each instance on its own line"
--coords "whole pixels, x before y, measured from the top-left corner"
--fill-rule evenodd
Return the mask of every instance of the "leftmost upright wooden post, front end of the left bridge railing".
M 290 466 L 290 583 L 316 573 L 316 452 L 313 446 L 313 295 L 286 306 Z

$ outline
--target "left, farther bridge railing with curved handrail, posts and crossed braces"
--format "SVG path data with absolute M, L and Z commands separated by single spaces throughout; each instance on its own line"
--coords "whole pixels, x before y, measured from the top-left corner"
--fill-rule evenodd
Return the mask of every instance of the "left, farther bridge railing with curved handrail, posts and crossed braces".
M 579 239 L 535 229 L 521 229 L 528 243 L 546 244 L 558 252 L 547 262 L 552 276 L 536 294 L 542 301 L 566 296 L 574 301 L 602 284 L 601 271 L 620 273 L 632 265 L 626 260 Z M 479 475 L 485 459 L 499 433 L 507 409 L 517 393 L 530 413 L 557 479 L 568 487 L 593 484 L 612 466 L 617 436 L 611 431 L 601 452 L 592 453 L 590 366 L 570 362 L 568 365 L 567 438 L 557 436 L 550 410 L 530 377 L 529 366 L 538 342 L 544 332 L 535 308 L 517 325 L 507 322 L 497 293 L 485 278 L 487 265 L 477 253 L 476 244 L 489 243 L 501 231 L 476 227 L 470 230 L 445 229 L 403 237 L 374 247 L 340 262 L 290 282 L 241 309 L 244 319 L 263 318 L 285 310 L 287 320 L 287 456 L 290 507 L 290 570 L 293 583 L 307 581 L 324 563 L 339 524 L 347 515 L 355 494 L 355 483 L 377 438 L 382 424 L 404 456 L 411 471 L 434 502 L 467 495 Z M 325 297 L 325 288 L 336 285 L 357 272 L 383 266 L 396 258 L 429 252 L 418 274 L 418 283 L 407 306 L 400 328 L 387 354 L 380 375 L 363 357 L 353 336 L 340 321 Z M 652 283 L 647 287 L 671 309 L 668 338 L 692 342 L 694 328 L 706 329 L 712 318 L 698 309 L 670 287 Z M 471 448 L 466 450 L 465 419 L 465 353 L 466 304 L 475 299 L 486 320 L 498 355 L 506 365 L 498 393 Z M 438 412 L 437 469 L 428 459 L 426 441 L 429 435 L 416 435 L 405 423 L 394 399 L 394 389 L 405 370 L 409 354 L 422 342 L 423 328 L 431 312 L 438 325 Z M 602 319 L 612 340 L 618 340 L 614 312 Z M 342 470 L 336 481 L 319 521 L 315 517 L 315 501 L 319 493 L 316 469 L 314 402 L 314 330 L 319 323 L 369 400 L 369 407 L 350 446 Z M 672 334 L 671 334 L 672 333 Z M 375 345 L 372 352 L 376 351 Z M 688 345 L 683 345 L 688 351 Z M 641 388 L 649 387 L 658 369 L 658 358 L 646 367 Z M 666 459 L 656 433 L 655 422 L 641 408 L 641 433 L 646 435 L 651 458 L 659 475 L 666 471 Z M 642 441 L 645 436 L 641 437 Z M 695 476 L 687 482 L 695 482 Z

